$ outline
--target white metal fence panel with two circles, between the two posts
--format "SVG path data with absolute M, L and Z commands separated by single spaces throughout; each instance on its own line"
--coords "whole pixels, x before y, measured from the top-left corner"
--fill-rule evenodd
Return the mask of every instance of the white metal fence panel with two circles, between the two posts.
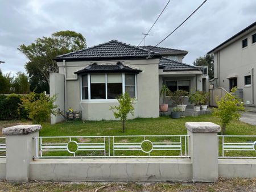
M 188 158 L 188 135 L 34 137 L 34 158 Z

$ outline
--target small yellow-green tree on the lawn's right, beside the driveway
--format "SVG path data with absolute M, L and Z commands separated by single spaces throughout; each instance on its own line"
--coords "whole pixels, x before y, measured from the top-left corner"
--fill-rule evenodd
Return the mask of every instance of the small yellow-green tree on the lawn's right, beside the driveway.
M 241 117 L 241 112 L 245 110 L 241 99 L 237 97 L 237 88 L 234 87 L 229 94 L 226 94 L 220 101 L 217 101 L 218 108 L 214 108 L 213 115 L 221 122 L 221 135 L 225 135 L 226 126 L 234 119 Z

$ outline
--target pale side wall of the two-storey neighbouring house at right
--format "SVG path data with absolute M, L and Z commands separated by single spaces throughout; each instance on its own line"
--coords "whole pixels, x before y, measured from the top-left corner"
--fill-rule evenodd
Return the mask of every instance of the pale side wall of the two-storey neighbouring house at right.
M 256 102 L 253 70 L 256 68 L 256 43 L 252 35 L 256 27 L 234 39 L 230 44 L 214 52 L 214 87 L 230 91 L 229 78 L 237 78 L 237 87 L 243 89 L 243 101 Z M 247 47 L 242 48 L 242 40 L 247 38 Z M 251 76 L 251 85 L 245 85 L 245 76 Z

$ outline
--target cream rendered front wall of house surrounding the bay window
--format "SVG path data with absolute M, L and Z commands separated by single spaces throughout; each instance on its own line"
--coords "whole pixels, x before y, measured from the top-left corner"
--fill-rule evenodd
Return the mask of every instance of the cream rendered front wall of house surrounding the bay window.
M 120 60 L 118 60 L 120 61 Z M 59 73 L 67 79 L 67 108 L 82 111 L 82 119 L 85 120 L 111 120 L 115 119 L 110 106 L 118 105 L 117 101 L 93 101 L 81 100 L 80 76 L 74 74 L 79 69 L 85 68 L 94 62 L 116 63 L 118 61 L 76 61 L 57 62 Z M 159 117 L 159 93 L 158 93 L 158 64 L 159 59 L 149 60 L 123 60 L 125 65 L 142 70 L 137 74 L 137 99 L 134 103 L 134 116 L 129 118 L 157 118 Z

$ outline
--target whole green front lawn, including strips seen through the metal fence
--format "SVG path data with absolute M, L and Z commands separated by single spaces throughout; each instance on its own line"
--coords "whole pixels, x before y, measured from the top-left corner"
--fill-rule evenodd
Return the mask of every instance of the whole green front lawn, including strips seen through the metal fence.
M 143 137 L 136 138 L 127 138 L 126 135 L 187 135 L 187 129 L 185 128 L 185 122 L 213 122 L 216 124 L 220 124 L 217 118 L 213 115 L 201 115 L 199 117 L 187 116 L 185 118 L 180 119 L 170 119 L 167 116 L 156 118 L 156 119 L 133 119 L 127 120 L 126 122 L 126 130 L 125 133 L 122 132 L 122 124 L 119 121 L 74 121 L 72 123 L 57 123 L 55 125 L 51 124 L 43 124 L 43 128 L 40 131 L 40 136 L 124 136 L 120 138 L 116 138 L 115 142 L 138 142 L 141 143 L 143 141 Z M 240 121 L 233 121 L 226 128 L 226 135 L 256 135 L 256 126 L 251 126 L 247 123 L 243 123 Z M 159 142 L 177 142 L 179 138 L 176 137 L 148 137 L 151 141 L 159 141 Z M 252 141 L 249 137 L 240 137 L 240 138 L 228 138 L 226 141 L 233 142 L 249 142 Z M 98 143 L 104 142 L 104 139 L 82 139 L 76 138 L 73 139 L 78 143 Z M 68 139 L 44 139 L 44 143 L 67 143 Z M 110 149 L 112 149 L 113 139 L 110 139 Z M 183 139 L 184 142 L 184 139 Z M 220 142 L 221 143 L 221 142 Z M 108 148 L 108 142 L 107 142 Z M 112 151 L 112 150 L 110 150 Z M 221 155 L 221 145 L 220 145 L 220 155 Z M 108 151 L 107 151 L 108 153 Z M 185 153 L 183 146 L 183 155 Z M 67 152 L 47 152 L 49 156 L 72 156 L 72 154 Z M 77 156 L 96 156 L 103 155 L 103 152 L 82 152 L 79 151 L 76 153 Z M 112 155 L 112 153 L 110 153 Z M 135 155 L 135 156 L 145 156 L 146 153 L 140 151 L 118 151 L 115 155 Z M 152 151 L 152 156 L 179 156 L 178 151 Z M 226 155 L 232 156 L 255 156 L 255 152 L 226 152 Z

